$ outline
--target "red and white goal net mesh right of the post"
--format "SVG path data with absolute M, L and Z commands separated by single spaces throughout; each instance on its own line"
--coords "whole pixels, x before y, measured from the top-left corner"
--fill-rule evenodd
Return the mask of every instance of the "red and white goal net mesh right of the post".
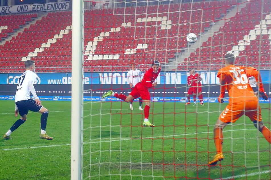
M 224 128 L 224 160 L 213 128 L 227 105 L 217 103 L 221 58 L 260 70 L 270 92 L 271 1 L 84 1 L 83 179 L 271 179 L 270 144 L 249 118 Z M 197 35 L 188 43 L 189 33 Z M 112 89 L 129 95 L 127 71 L 142 74 L 161 63 L 144 127 L 138 99 L 101 98 Z M 188 69 L 203 78 L 203 102 L 185 105 Z M 191 97 L 193 99 L 193 97 Z M 261 99 L 261 97 L 259 97 Z M 269 101 L 270 102 L 270 99 Z M 270 129 L 270 103 L 261 103 Z M 144 102 L 142 104 L 144 109 Z

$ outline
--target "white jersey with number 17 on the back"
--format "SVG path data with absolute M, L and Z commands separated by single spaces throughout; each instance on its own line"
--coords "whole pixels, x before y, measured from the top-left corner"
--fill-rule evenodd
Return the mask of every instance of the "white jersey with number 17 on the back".
M 28 87 L 28 82 L 33 83 L 37 79 L 37 74 L 27 70 L 18 79 L 17 91 L 15 94 L 15 102 L 30 99 L 30 89 Z

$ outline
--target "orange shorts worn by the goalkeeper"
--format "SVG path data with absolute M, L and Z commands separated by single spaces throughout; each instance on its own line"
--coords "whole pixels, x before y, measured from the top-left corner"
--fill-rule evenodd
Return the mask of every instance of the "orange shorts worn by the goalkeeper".
M 237 121 L 242 115 L 246 115 L 251 121 L 261 121 L 262 114 L 258 101 L 242 101 L 229 103 L 225 110 L 220 114 L 219 120 L 222 122 Z

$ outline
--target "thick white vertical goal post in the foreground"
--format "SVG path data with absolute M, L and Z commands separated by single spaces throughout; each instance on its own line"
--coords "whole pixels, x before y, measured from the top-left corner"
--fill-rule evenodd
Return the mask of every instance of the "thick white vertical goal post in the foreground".
M 83 1 L 72 1 L 71 179 L 82 179 Z

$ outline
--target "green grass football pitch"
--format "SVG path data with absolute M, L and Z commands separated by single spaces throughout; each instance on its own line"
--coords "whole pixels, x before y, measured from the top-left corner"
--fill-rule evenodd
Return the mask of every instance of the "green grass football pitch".
M 71 102 L 42 101 L 49 110 L 46 132 L 39 138 L 40 114 L 0 140 L 0 179 L 70 179 Z M 215 155 L 213 127 L 227 103 L 185 106 L 152 102 L 150 122 L 125 102 L 85 102 L 83 179 L 270 179 L 270 144 L 249 118 L 224 128 L 225 159 L 208 166 Z M 0 135 L 18 119 L 14 101 L 0 101 Z M 270 129 L 270 104 L 260 104 Z M 144 106 L 143 106 L 144 108 Z

